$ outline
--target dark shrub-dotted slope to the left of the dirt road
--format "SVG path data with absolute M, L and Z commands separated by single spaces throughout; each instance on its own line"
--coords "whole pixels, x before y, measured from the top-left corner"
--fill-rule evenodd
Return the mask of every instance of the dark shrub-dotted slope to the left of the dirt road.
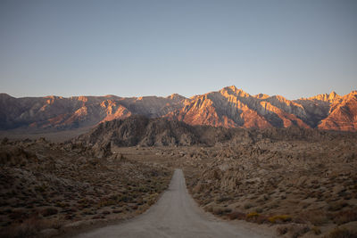
M 53 237 L 144 212 L 171 170 L 107 148 L 8 141 L 0 145 L 0 237 Z

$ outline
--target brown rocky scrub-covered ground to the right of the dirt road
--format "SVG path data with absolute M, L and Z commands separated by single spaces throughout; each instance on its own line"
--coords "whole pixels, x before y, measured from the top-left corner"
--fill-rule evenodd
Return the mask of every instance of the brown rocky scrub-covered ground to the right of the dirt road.
M 182 150 L 195 201 L 219 217 L 275 226 L 279 236 L 356 237 L 357 135 L 284 134 Z

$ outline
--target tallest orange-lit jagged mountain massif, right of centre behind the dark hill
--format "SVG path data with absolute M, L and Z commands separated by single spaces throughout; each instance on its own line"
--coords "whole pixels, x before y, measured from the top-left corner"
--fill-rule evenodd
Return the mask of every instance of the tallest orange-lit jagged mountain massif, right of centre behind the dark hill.
M 299 103 L 282 96 L 251 96 L 236 86 L 197 95 L 179 111 L 178 119 L 191 125 L 213 127 L 309 127 Z

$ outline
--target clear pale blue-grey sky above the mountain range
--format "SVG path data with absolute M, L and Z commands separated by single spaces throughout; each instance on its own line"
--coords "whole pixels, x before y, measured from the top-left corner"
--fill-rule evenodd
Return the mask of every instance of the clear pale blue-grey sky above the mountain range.
M 0 92 L 357 89 L 357 1 L 0 0 Z

